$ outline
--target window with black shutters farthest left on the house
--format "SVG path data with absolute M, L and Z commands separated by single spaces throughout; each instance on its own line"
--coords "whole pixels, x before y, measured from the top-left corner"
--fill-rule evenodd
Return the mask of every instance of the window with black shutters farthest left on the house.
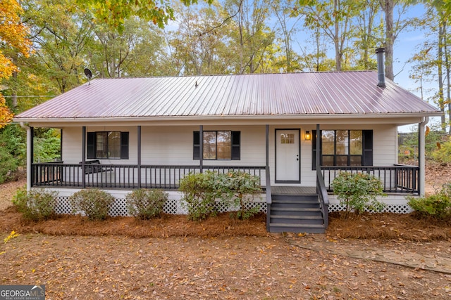
M 128 159 L 128 132 L 88 132 L 87 158 Z

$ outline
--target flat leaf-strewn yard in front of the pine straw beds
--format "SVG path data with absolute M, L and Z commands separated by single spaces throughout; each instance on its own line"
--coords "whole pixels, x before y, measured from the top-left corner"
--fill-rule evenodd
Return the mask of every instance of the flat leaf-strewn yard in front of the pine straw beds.
M 311 237 L 302 238 L 309 242 Z M 407 244 L 393 247 L 403 251 Z M 449 242 L 416 247 L 451 251 Z M 1 284 L 45 284 L 46 299 L 451 296 L 449 274 L 303 249 L 281 235 L 160 239 L 26 234 L 0 250 Z

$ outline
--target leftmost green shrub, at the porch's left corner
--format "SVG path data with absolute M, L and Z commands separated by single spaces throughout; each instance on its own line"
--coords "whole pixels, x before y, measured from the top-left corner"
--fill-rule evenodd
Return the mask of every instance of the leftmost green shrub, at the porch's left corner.
M 13 204 L 23 214 L 24 219 L 43 221 L 55 216 L 58 193 L 49 190 L 30 190 L 20 188 L 13 197 Z

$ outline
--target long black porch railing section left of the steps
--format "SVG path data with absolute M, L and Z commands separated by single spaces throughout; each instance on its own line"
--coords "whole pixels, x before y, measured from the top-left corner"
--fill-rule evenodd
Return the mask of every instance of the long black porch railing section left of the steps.
M 219 173 L 244 171 L 259 176 L 261 186 L 266 187 L 264 166 L 203 166 L 202 169 Z M 200 173 L 200 170 L 195 165 L 142 165 L 138 168 L 133 164 L 85 165 L 83 169 L 81 164 L 44 162 L 32 164 L 32 186 L 175 190 L 178 189 L 181 178 L 190 173 Z

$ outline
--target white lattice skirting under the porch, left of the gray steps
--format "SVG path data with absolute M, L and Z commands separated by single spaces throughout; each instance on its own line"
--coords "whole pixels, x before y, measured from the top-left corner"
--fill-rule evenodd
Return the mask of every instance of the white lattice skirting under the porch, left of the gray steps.
M 259 211 L 266 214 L 266 202 L 248 202 L 246 205 L 247 209 L 259 209 Z M 219 212 L 226 211 L 237 211 L 238 207 L 225 207 L 218 204 Z M 58 201 L 55 207 L 56 214 L 72 214 L 72 207 L 70 206 L 69 197 L 68 196 L 58 196 Z M 180 200 L 169 199 L 164 204 L 163 212 L 166 214 L 187 214 L 187 210 L 180 203 Z M 128 214 L 127 202 L 125 198 L 116 198 L 116 201 L 111 205 L 111 209 L 109 211 L 110 216 L 130 216 Z

